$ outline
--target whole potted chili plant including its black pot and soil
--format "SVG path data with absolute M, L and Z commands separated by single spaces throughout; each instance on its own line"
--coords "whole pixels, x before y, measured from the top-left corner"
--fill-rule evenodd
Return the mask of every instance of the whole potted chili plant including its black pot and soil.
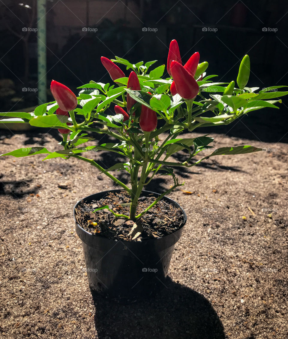
M 119 57 L 111 60 L 102 57 L 114 84 L 90 81 L 79 87 L 76 97 L 68 87 L 52 80 L 55 101 L 38 106 L 32 113 L 0 114 L 5 117 L 0 123 L 15 122 L 16 118 L 19 123 L 58 128 L 63 135 L 62 148 L 56 152 L 35 146 L 2 156 L 45 154 L 43 160 L 76 158 L 96 167 L 120 187 L 85 197 L 74 207 L 89 285 L 111 298 L 147 296 L 164 284 L 174 244 L 186 222 L 182 208 L 167 197 L 183 185 L 174 174 L 174 167 L 189 168 L 217 155 L 262 151 L 240 145 L 209 152 L 213 138 L 207 135 L 183 138 L 181 133 L 228 125 L 263 107 L 278 108 L 275 103 L 281 103 L 279 97 L 288 94 L 275 92 L 276 88 L 286 86 L 259 92 L 258 87 L 246 87 L 250 74 L 247 55 L 240 64 L 237 86 L 235 81 L 213 82 L 216 76 L 207 76 L 205 72 L 208 63 L 199 60 L 196 52 L 182 65 L 176 40 L 170 44 L 168 76 L 165 65 L 150 70 L 155 60 L 133 64 Z M 116 64 L 124 65 L 129 77 Z M 111 107 L 115 114 L 109 111 Z M 111 142 L 94 144 L 95 134 L 106 134 Z M 89 146 L 83 145 L 86 142 Z M 127 160 L 104 168 L 91 156 L 99 150 Z M 181 150 L 186 151 L 187 159 L 171 160 Z M 202 151 L 206 155 L 194 160 Z M 130 183 L 125 184 L 113 175 L 114 170 L 129 173 Z M 145 191 L 156 175 L 169 175 L 174 184 L 161 194 Z

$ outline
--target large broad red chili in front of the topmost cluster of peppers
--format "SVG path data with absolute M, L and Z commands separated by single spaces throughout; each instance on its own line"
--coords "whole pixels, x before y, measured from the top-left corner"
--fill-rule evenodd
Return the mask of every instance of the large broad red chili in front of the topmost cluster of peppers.
M 177 93 L 184 99 L 194 99 L 199 92 L 199 86 L 194 77 L 175 60 L 171 62 L 171 72 Z

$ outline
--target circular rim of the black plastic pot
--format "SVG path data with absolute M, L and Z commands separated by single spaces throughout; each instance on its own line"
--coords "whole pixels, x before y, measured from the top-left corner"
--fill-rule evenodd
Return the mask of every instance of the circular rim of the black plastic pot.
M 100 191 L 100 192 L 97 192 L 97 193 L 93 193 L 93 194 L 90 194 L 90 195 L 88 195 L 88 196 L 86 196 L 86 197 L 84 197 L 83 199 L 80 199 L 79 201 L 77 201 L 76 202 L 76 204 L 74 205 L 74 207 L 73 207 L 73 219 L 74 219 L 74 221 L 75 221 L 75 224 L 77 225 L 77 227 L 79 227 L 80 229 L 81 229 L 81 231 L 82 232 L 84 232 L 84 234 L 86 234 L 86 235 L 88 235 L 88 236 L 92 236 L 92 237 L 96 237 L 96 238 L 100 238 L 100 239 L 106 239 L 106 240 L 109 240 L 109 241 L 113 241 L 113 242 L 121 242 L 121 243 L 123 243 L 123 244 L 131 244 L 131 243 L 137 243 L 137 244 L 140 244 L 140 243 L 142 243 L 142 244 L 147 244 L 149 241 L 158 241 L 158 242 L 160 242 L 162 239 L 164 239 L 165 237 L 168 237 L 168 236 L 171 236 L 173 233 L 176 233 L 176 232 L 178 232 L 178 231 L 180 231 L 184 226 L 185 226 L 185 224 L 186 224 L 186 221 L 187 221 L 187 215 L 186 215 L 186 213 L 185 213 L 185 211 L 183 210 L 183 208 L 178 204 L 178 202 L 177 201 L 175 201 L 175 200 L 173 200 L 173 199 L 171 199 L 171 198 L 169 198 L 169 197 L 167 197 L 167 196 L 164 196 L 162 199 L 166 199 L 166 200 L 168 200 L 168 202 L 170 202 L 170 203 L 173 203 L 173 205 L 178 205 L 179 206 L 179 208 L 182 210 L 182 216 L 183 216 L 183 221 L 184 221 L 184 223 L 183 223 L 183 225 L 181 226 L 181 227 L 179 227 L 176 231 L 174 231 L 174 232 L 171 232 L 171 233 L 169 233 L 169 234 L 167 234 L 167 235 L 165 235 L 165 236 L 163 236 L 163 237 L 159 237 L 159 238 L 155 238 L 155 239 L 146 239 L 146 240 L 143 240 L 143 241 L 141 241 L 141 242 L 135 242 L 135 241 L 127 241 L 127 240 L 112 240 L 112 239 L 109 239 L 109 238 L 105 238 L 105 237 L 101 237 L 101 236 L 98 236 L 98 235 L 96 235 L 96 234 L 92 234 L 92 233 L 90 233 L 90 232 L 88 232 L 88 231 L 86 231 L 86 230 L 84 230 L 84 228 L 81 226 L 81 225 L 79 225 L 79 223 L 76 221 L 76 219 L 75 219 L 75 209 L 76 209 L 76 207 L 78 207 L 78 205 L 81 203 L 81 201 L 85 201 L 85 199 L 87 199 L 87 200 L 89 200 L 88 198 L 89 197 L 91 197 L 91 196 L 94 196 L 95 194 L 100 194 L 100 193 L 103 193 L 103 196 L 105 196 L 105 194 L 107 194 L 107 193 L 110 193 L 110 192 L 120 192 L 120 191 L 125 191 L 123 188 L 117 188 L 117 189 L 114 189 L 114 190 L 107 190 L 107 191 Z M 155 194 L 155 195 L 160 195 L 160 193 L 156 193 L 156 192 L 152 192 L 152 191 L 145 191 L 145 190 L 143 190 L 142 192 L 141 192 L 141 194 L 143 193 L 143 192 L 145 192 L 145 193 L 147 193 L 147 194 Z M 179 239 L 178 239 L 179 240 Z

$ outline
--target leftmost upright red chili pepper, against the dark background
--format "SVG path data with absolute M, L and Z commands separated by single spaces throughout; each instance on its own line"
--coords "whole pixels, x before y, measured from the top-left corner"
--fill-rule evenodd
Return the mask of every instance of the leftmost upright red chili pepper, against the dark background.
M 50 91 L 63 111 L 71 111 L 76 108 L 78 101 L 70 88 L 55 80 L 51 81 Z

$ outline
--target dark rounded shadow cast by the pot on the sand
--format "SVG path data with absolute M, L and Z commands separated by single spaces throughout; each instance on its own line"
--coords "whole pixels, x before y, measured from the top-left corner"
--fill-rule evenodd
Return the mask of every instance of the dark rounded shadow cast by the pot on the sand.
M 92 292 L 99 339 L 224 339 L 223 325 L 211 303 L 169 277 L 154 298 L 118 304 Z

